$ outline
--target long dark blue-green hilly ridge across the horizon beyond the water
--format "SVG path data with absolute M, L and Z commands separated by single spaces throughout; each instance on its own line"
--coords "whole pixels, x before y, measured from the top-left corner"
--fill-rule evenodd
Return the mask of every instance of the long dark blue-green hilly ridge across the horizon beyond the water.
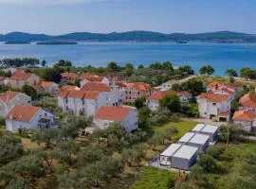
M 179 42 L 179 41 L 199 41 L 218 43 L 256 43 L 256 35 L 238 33 L 231 31 L 218 31 L 198 34 L 171 33 L 164 34 L 152 31 L 128 31 L 113 33 L 89 33 L 75 32 L 59 36 L 49 36 L 46 34 L 30 34 L 23 32 L 12 32 L 0 35 L 0 41 L 11 42 L 34 42 L 34 41 L 94 41 L 94 42 L 115 42 L 115 41 L 137 41 L 137 42 Z

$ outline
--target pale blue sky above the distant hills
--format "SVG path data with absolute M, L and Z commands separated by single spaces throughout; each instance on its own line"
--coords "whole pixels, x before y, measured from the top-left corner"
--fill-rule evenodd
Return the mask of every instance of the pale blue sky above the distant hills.
M 150 30 L 256 34 L 255 0 L 0 0 L 0 33 Z

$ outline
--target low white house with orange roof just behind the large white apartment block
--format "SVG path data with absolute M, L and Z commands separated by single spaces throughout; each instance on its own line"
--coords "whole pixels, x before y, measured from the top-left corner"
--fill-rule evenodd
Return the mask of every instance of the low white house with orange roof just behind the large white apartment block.
M 80 76 L 82 79 L 80 81 L 81 87 L 84 86 L 88 82 L 93 82 L 93 83 L 104 83 L 106 85 L 109 85 L 109 79 L 107 77 L 99 77 L 97 75 L 91 75 L 88 73 L 84 73 Z

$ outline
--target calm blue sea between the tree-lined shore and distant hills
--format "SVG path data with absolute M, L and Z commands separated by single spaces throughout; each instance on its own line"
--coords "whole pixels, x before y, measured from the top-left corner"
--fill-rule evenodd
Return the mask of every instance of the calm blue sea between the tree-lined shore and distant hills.
M 148 65 L 169 60 L 174 66 L 190 64 L 195 71 L 204 64 L 215 68 L 222 76 L 228 68 L 256 69 L 256 44 L 248 43 L 137 43 L 88 42 L 77 45 L 38 45 L 0 43 L 0 59 L 33 57 L 46 60 L 71 60 L 76 66 L 105 66 L 115 60 L 120 64 L 132 62 Z

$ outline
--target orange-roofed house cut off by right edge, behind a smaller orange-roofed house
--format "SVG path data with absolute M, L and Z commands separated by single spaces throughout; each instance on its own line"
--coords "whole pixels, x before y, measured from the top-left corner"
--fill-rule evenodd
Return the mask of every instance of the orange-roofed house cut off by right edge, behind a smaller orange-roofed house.
M 256 115 L 256 94 L 248 93 L 239 100 L 239 110 L 249 110 Z

